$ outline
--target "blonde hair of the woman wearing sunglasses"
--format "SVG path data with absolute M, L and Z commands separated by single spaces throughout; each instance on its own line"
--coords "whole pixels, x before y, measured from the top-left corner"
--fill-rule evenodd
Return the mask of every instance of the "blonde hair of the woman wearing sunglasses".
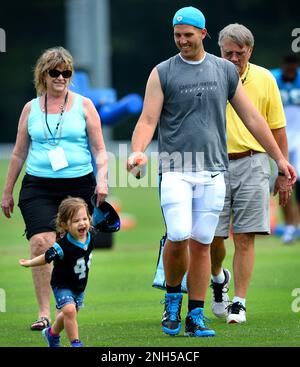
M 34 86 L 38 96 L 46 93 L 46 73 L 59 65 L 65 65 L 66 69 L 74 72 L 73 57 L 68 50 L 58 46 L 45 50 L 38 58 L 34 67 Z

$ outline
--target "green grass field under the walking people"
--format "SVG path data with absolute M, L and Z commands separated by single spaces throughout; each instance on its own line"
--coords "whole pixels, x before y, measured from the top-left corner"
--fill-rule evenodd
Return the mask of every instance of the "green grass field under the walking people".
M 0 161 L 2 193 L 7 162 Z M 17 202 L 18 186 L 15 191 Z M 282 245 L 276 237 L 260 237 L 256 264 L 247 297 L 245 325 L 227 325 L 210 311 L 210 290 L 206 316 L 216 330 L 215 338 L 169 337 L 161 332 L 162 291 L 151 287 L 159 239 L 164 227 L 155 188 L 112 189 L 124 212 L 134 215 L 137 225 L 114 236 L 113 249 L 94 251 L 85 308 L 79 313 L 80 337 L 92 347 L 254 347 L 300 346 L 300 305 L 292 296 L 300 294 L 300 242 Z M 39 332 L 29 330 L 36 318 L 31 271 L 21 268 L 18 259 L 28 257 L 22 237 L 24 225 L 18 207 L 13 219 L 0 213 L 0 288 L 6 294 L 6 312 L 0 312 L 0 346 L 45 346 Z M 231 269 L 232 241 L 227 241 L 226 266 Z M 229 291 L 233 295 L 233 286 Z M 52 299 L 53 300 L 53 299 Z M 54 302 L 53 314 L 54 317 Z M 186 313 L 184 297 L 182 316 Z M 2 310 L 3 311 L 3 310 Z M 68 346 L 63 334 L 62 344 Z

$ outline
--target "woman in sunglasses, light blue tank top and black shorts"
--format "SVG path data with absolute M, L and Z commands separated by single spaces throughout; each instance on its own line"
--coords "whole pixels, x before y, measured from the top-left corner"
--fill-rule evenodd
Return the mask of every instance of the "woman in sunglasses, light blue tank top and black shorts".
M 92 212 L 91 196 L 96 193 L 99 204 L 108 194 L 100 118 L 90 99 L 69 90 L 73 72 L 72 56 L 63 47 L 48 49 L 37 60 L 37 98 L 23 108 L 8 167 L 1 208 L 10 218 L 14 186 L 26 161 L 18 205 L 31 257 L 41 255 L 55 242 L 55 217 L 63 199 L 82 197 Z M 51 268 L 33 268 L 32 274 L 39 310 L 31 329 L 42 330 L 51 320 Z

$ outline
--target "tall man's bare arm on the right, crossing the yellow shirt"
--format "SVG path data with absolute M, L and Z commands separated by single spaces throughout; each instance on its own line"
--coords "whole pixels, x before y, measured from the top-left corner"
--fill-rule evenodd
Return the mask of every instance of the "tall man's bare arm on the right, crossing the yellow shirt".
M 276 144 L 269 125 L 246 95 L 240 81 L 230 103 L 247 129 L 275 160 L 279 171 L 284 173 L 290 184 L 294 184 L 297 179 L 294 167 L 285 159 Z

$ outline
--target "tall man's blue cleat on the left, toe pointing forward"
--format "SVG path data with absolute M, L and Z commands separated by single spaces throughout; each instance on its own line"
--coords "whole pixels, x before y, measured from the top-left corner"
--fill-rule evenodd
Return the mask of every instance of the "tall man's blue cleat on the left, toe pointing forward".
M 165 311 L 162 318 L 162 330 L 168 335 L 177 335 L 181 329 L 181 293 L 166 293 Z

